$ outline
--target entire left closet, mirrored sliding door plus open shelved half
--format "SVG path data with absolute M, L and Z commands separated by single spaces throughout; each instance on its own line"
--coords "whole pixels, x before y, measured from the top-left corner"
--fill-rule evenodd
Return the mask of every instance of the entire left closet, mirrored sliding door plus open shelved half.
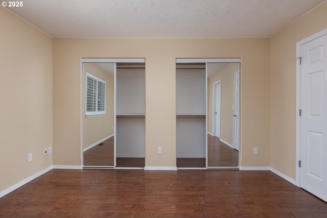
M 83 167 L 144 167 L 145 59 L 84 58 L 82 66 Z

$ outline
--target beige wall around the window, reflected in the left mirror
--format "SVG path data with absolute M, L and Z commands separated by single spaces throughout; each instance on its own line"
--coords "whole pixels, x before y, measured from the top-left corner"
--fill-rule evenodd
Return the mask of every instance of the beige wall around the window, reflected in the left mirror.
M 113 76 L 103 71 L 92 63 L 84 63 L 84 81 L 86 81 L 86 71 L 90 74 L 106 81 L 106 115 L 105 116 L 88 116 L 85 117 L 85 99 L 83 99 L 83 119 L 84 119 L 84 149 L 92 144 L 113 135 Z M 84 98 L 86 84 L 83 86 Z

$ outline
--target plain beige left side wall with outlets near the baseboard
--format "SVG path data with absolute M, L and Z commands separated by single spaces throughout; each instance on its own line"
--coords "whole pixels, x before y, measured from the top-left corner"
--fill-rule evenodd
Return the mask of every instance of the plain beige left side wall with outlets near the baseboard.
M 3 191 L 52 165 L 52 39 L 3 7 L 0 20 Z

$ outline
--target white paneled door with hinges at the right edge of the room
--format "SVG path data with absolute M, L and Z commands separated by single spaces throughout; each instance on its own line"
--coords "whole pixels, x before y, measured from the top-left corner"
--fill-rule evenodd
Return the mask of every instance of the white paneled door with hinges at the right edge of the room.
M 300 186 L 327 201 L 327 35 L 301 46 Z

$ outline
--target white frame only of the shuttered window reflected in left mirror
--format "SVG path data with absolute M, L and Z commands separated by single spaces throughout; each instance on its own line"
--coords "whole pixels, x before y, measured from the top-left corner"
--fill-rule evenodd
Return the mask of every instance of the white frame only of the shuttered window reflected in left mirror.
M 88 71 L 86 71 L 86 84 L 85 84 L 85 116 L 100 116 L 100 115 L 106 115 L 106 81 L 90 74 Z M 96 81 L 96 96 L 95 96 L 95 111 L 87 111 L 87 81 L 88 78 L 92 78 Z M 99 110 L 98 108 L 98 101 L 99 101 L 99 82 L 104 84 L 104 88 L 103 88 L 103 95 L 102 95 L 102 99 L 103 99 L 103 110 Z M 94 99 L 93 99 L 94 101 Z

